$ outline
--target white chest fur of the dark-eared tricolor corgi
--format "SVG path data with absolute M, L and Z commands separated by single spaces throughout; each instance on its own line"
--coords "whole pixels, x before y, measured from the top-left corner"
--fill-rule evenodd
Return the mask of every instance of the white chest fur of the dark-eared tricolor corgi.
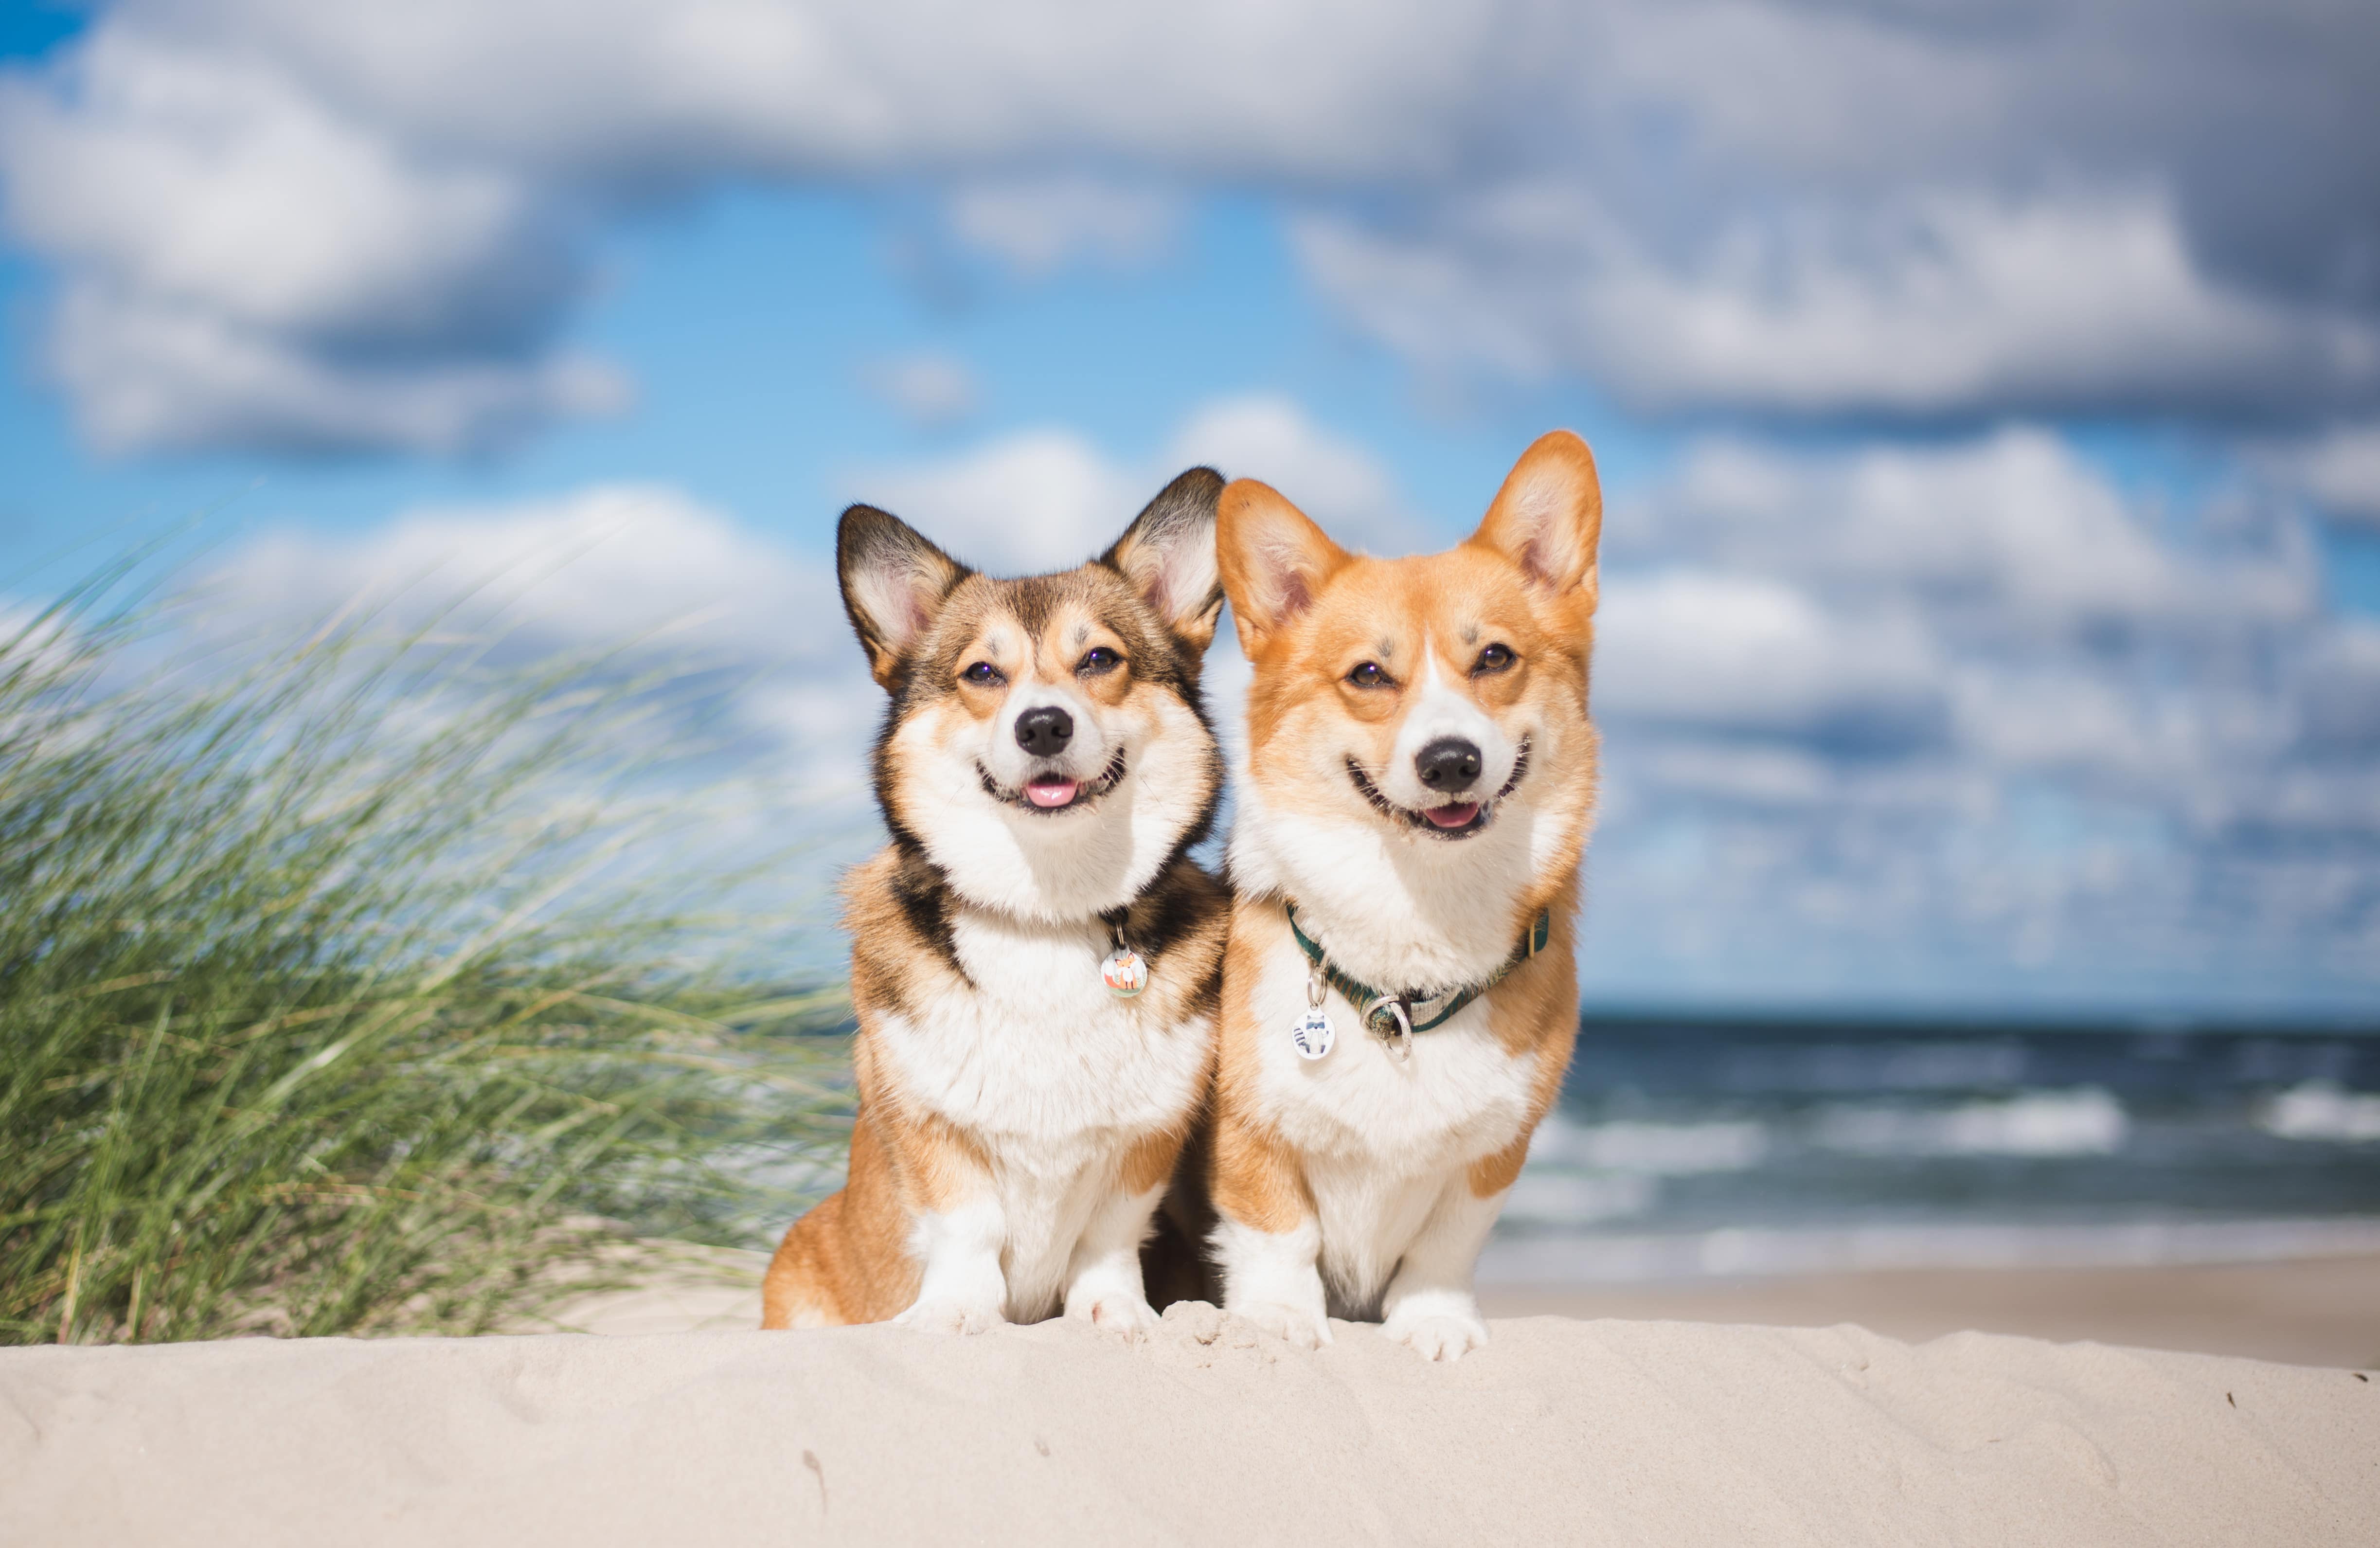
M 1126 1153 L 1197 1103 L 1214 1024 L 1166 1022 L 1154 991 L 1109 993 L 1100 962 L 1111 943 L 1097 922 L 962 910 L 952 943 L 973 986 L 883 1015 L 871 1036 L 902 1096 L 966 1131 L 990 1162 L 1009 1317 L 1031 1319 L 1054 1310 Z

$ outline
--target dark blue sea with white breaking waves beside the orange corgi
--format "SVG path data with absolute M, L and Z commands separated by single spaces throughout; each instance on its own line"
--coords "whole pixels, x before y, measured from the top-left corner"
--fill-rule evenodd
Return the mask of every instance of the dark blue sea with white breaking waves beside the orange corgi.
M 1490 1284 L 2380 1250 L 2380 1036 L 1587 1022 Z

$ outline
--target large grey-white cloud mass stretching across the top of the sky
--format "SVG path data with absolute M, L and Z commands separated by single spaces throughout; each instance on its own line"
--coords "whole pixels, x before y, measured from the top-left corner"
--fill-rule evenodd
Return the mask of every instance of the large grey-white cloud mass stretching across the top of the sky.
M 593 231 L 754 179 L 921 188 L 1023 271 L 1135 262 L 1180 200 L 1254 191 L 1416 360 L 1642 405 L 2332 414 L 2380 400 L 2375 26 L 2340 7 L 2242 45 L 2225 5 L 2130 0 L 1959 24 L 124 0 L 0 88 L 0 179 L 76 298 L 69 388 L 124 445 L 455 450 L 581 412 L 540 381 Z M 326 433 L 281 393 L 243 410 L 240 369 L 143 386 L 140 348 L 74 343 L 102 312 L 402 402 Z

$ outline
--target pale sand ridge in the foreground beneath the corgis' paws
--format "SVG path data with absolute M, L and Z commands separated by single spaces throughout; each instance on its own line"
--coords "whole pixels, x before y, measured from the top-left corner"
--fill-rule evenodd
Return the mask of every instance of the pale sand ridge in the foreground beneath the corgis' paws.
M 2356 1543 L 2380 1381 L 1852 1327 L 1214 1307 L 812 1334 L 0 1350 L 0 1543 Z

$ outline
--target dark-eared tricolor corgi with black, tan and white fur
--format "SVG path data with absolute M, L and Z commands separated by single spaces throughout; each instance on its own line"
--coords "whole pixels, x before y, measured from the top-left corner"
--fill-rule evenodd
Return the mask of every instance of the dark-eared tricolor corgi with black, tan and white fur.
M 1204 1103 L 1228 922 L 1188 855 L 1223 784 L 1200 705 L 1221 486 L 1190 469 L 1102 557 L 1026 581 L 843 512 L 892 843 L 843 888 L 850 1176 L 785 1231 L 762 1327 L 1154 1327 L 1140 1243 Z

